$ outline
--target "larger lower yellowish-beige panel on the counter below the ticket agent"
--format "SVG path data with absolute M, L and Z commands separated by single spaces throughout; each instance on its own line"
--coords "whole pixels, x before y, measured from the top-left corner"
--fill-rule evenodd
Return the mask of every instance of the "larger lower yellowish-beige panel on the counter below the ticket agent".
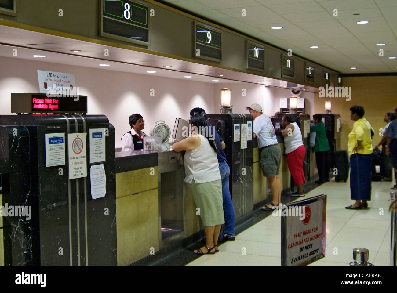
M 150 255 L 151 247 L 159 250 L 157 188 L 116 199 L 116 216 L 118 265 Z

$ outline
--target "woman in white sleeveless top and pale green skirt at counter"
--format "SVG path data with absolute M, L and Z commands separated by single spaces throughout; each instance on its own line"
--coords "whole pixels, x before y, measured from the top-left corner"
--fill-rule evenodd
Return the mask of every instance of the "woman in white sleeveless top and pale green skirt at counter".
M 206 245 L 194 251 L 195 254 L 214 254 L 218 249 L 218 235 L 225 223 L 222 182 L 216 158 L 216 144 L 210 140 L 205 118 L 195 114 L 191 120 L 192 135 L 174 143 L 175 152 L 186 150 L 183 158 L 185 182 L 193 195 L 204 224 Z

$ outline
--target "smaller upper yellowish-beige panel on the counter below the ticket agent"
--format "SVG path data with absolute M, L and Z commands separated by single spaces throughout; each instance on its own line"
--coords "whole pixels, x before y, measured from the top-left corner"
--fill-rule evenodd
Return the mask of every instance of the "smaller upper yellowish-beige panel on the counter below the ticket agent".
M 157 166 L 116 174 L 116 198 L 153 188 L 158 188 Z

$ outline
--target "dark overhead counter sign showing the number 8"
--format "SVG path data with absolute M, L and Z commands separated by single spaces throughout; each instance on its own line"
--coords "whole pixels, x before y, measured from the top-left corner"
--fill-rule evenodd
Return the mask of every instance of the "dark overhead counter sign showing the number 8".
M 149 7 L 128 0 L 101 0 L 100 35 L 149 45 Z

